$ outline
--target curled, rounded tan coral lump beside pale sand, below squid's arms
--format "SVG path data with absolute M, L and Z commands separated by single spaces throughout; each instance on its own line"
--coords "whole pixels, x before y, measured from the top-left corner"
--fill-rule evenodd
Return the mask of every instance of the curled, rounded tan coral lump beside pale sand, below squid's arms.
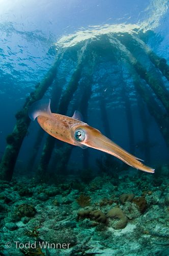
M 112 223 L 112 227 L 115 229 L 122 229 L 125 228 L 127 225 L 127 217 L 125 216 L 123 210 L 121 208 L 115 207 L 108 211 L 107 218 L 114 219 L 118 218 L 117 222 Z

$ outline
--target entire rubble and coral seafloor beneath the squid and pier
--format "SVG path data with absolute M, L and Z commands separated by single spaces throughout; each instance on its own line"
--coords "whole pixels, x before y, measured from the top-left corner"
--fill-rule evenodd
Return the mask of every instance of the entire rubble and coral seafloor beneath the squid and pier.
M 169 255 L 168 177 L 133 169 L 88 178 L 1 182 L 0 254 Z

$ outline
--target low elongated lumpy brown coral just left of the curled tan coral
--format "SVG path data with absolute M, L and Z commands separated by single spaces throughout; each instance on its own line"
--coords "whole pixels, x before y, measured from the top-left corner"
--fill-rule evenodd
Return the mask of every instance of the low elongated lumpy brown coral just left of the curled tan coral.
M 81 210 L 77 214 L 77 219 L 81 218 L 89 218 L 91 220 L 95 220 L 97 222 L 105 223 L 106 222 L 106 216 L 105 214 L 100 210 Z

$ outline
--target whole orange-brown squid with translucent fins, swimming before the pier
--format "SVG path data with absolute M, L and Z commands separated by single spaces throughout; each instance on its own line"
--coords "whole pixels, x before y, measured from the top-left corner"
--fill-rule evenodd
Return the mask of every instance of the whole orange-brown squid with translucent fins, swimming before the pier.
M 101 134 L 99 130 L 83 122 L 78 111 L 75 111 L 72 117 L 51 113 L 50 99 L 47 99 L 33 103 L 29 110 L 29 116 L 32 120 L 37 117 L 42 129 L 54 138 L 82 148 L 93 147 L 121 159 L 136 169 L 154 173 L 153 168 L 138 161 L 141 159 L 129 154 Z

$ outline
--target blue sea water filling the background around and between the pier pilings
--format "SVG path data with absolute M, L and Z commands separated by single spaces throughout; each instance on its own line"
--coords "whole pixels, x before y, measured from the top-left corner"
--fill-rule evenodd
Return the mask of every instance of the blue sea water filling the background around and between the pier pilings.
M 78 86 L 68 102 L 68 110 L 65 114 L 72 116 L 74 111 L 80 108 L 82 96 L 86 91 L 91 90 L 87 106 L 85 101 L 84 109 L 81 108 L 81 112 L 84 112 L 84 122 L 101 131 L 131 154 L 145 160 L 146 165 L 157 169 L 157 177 L 160 175 L 168 177 L 168 142 L 166 138 L 169 135 L 164 138 L 161 133 L 161 130 L 168 131 L 169 129 L 168 113 L 158 95 L 137 74 L 139 81 L 142 82 L 145 90 L 150 92 L 162 113 L 161 123 L 157 122 L 148 103 L 139 95 L 134 86 L 137 75 L 134 66 L 131 65 L 132 61 L 134 64 L 134 59 L 139 61 L 149 74 L 162 84 L 169 101 L 169 82 L 164 74 L 154 66 L 148 55 L 148 51 L 151 50 L 156 56 L 164 58 L 166 63 L 169 63 L 168 1 L 41 0 L 39 2 L 0 0 L 0 6 L 0 159 L 6 149 L 6 137 L 12 133 L 16 124 L 15 114 L 21 110 L 26 98 L 35 91 L 37 84 L 44 79 L 56 58 L 62 56 L 54 82 L 50 84 L 44 95 L 44 98 L 53 98 L 52 112 L 55 113 L 60 97 L 66 92 L 76 67 L 81 61 L 80 77 L 78 81 L 74 80 L 74 82 L 78 82 Z M 136 45 L 132 46 L 132 42 L 127 41 L 127 35 L 130 40 L 135 38 L 133 40 Z M 125 38 L 124 41 L 123 38 Z M 143 45 L 140 46 L 142 43 Z M 88 87 L 88 83 L 91 87 Z M 55 91 L 54 84 L 56 84 Z M 141 112 L 141 106 L 143 112 Z M 145 138 L 144 127 L 146 127 L 148 140 Z M 39 145 L 36 160 L 30 170 L 31 174 L 27 166 L 39 129 L 36 121 L 31 122 L 16 161 L 14 180 L 21 179 L 19 182 L 22 182 L 22 179 L 27 176 L 29 179 L 30 177 L 34 179 L 36 176 L 47 134 L 44 134 Z M 131 141 L 132 139 L 133 141 Z M 66 161 L 63 160 L 62 153 L 65 143 L 57 143 L 55 143 L 48 166 L 48 171 L 52 174 L 57 174 L 60 163 Z M 146 151 L 147 148 L 148 151 Z M 54 158 L 58 152 L 60 157 L 56 161 Z M 92 170 L 94 177 L 100 175 L 103 166 L 100 167 L 98 162 L 101 160 L 103 165 L 105 164 L 104 161 L 107 159 L 105 153 L 92 148 L 89 148 L 87 152 L 89 154 L 88 164 L 84 163 L 85 153 L 83 150 L 80 147 L 73 147 L 69 161 L 65 165 L 67 173 L 64 175 L 66 178 L 69 175 L 83 173 L 86 166 Z M 126 164 L 122 165 L 122 162 L 114 157 L 107 161 L 110 161 L 109 165 L 106 165 L 107 175 L 112 172 L 118 175 L 119 173 L 123 175 L 125 172 L 126 175 L 131 174 L 131 176 L 132 173 L 141 173 Z M 115 169 L 112 168 L 113 165 L 116 166 Z M 27 173 L 29 174 L 27 175 Z M 61 174 L 60 172 L 58 175 Z M 44 178 L 43 182 L 44 180 L 47 182 L 48 178 Z M 120 184 L 119 180 L 118 184 Z M 136 183 L 136 180 L 142 183 L 139 176 L 133 183 Z M 167 181 L 166 178 L 161 191 L 165 190 Z M 107 184 L 109 183 L 107 182 Z M 152 184 L 152 190 L 155 191 L 155 182 Z M 14 186 L 13 183 L 12 186 Z M 104 189 L 100 189 L 99 193 L 103 191 L 106 196 Z M 151 188 L 149 189 L 151 190 Z M 142 192 L 149 189 L 143 186 Z M 124 186 L 122 190 L 125 193 Z M 132 192 L 129 181 L 126 190 L 128 193 Z M 141 195 L 141 191 L 138 191 L 135 194 Z M 34 193 L 38 192 L 34 191 Z M 167 201 L 167 199 L 165 200 Z M 163 201 L 165 200 L 163 199 Z M 168 201 L 165 204 L 165 210 L 168 207 L 167 204 Z M 155 209 L 153 210 L 155 211 Z M 5 255 L 7 255 L 6 253 Z M 107 251 L 103 251 L 103 253 L 103 255 L 111 255 L 107 254 Z M 123 255 L 123 252 L 121 253 Z M 128 253 L 131 253 L 128 255 L 136 255 L 140 253 L 140 250 Z M 151 253 L 155 253 L 155 251 L 152 249 Z M 115 252 L 113 255 L 119 254 Z

